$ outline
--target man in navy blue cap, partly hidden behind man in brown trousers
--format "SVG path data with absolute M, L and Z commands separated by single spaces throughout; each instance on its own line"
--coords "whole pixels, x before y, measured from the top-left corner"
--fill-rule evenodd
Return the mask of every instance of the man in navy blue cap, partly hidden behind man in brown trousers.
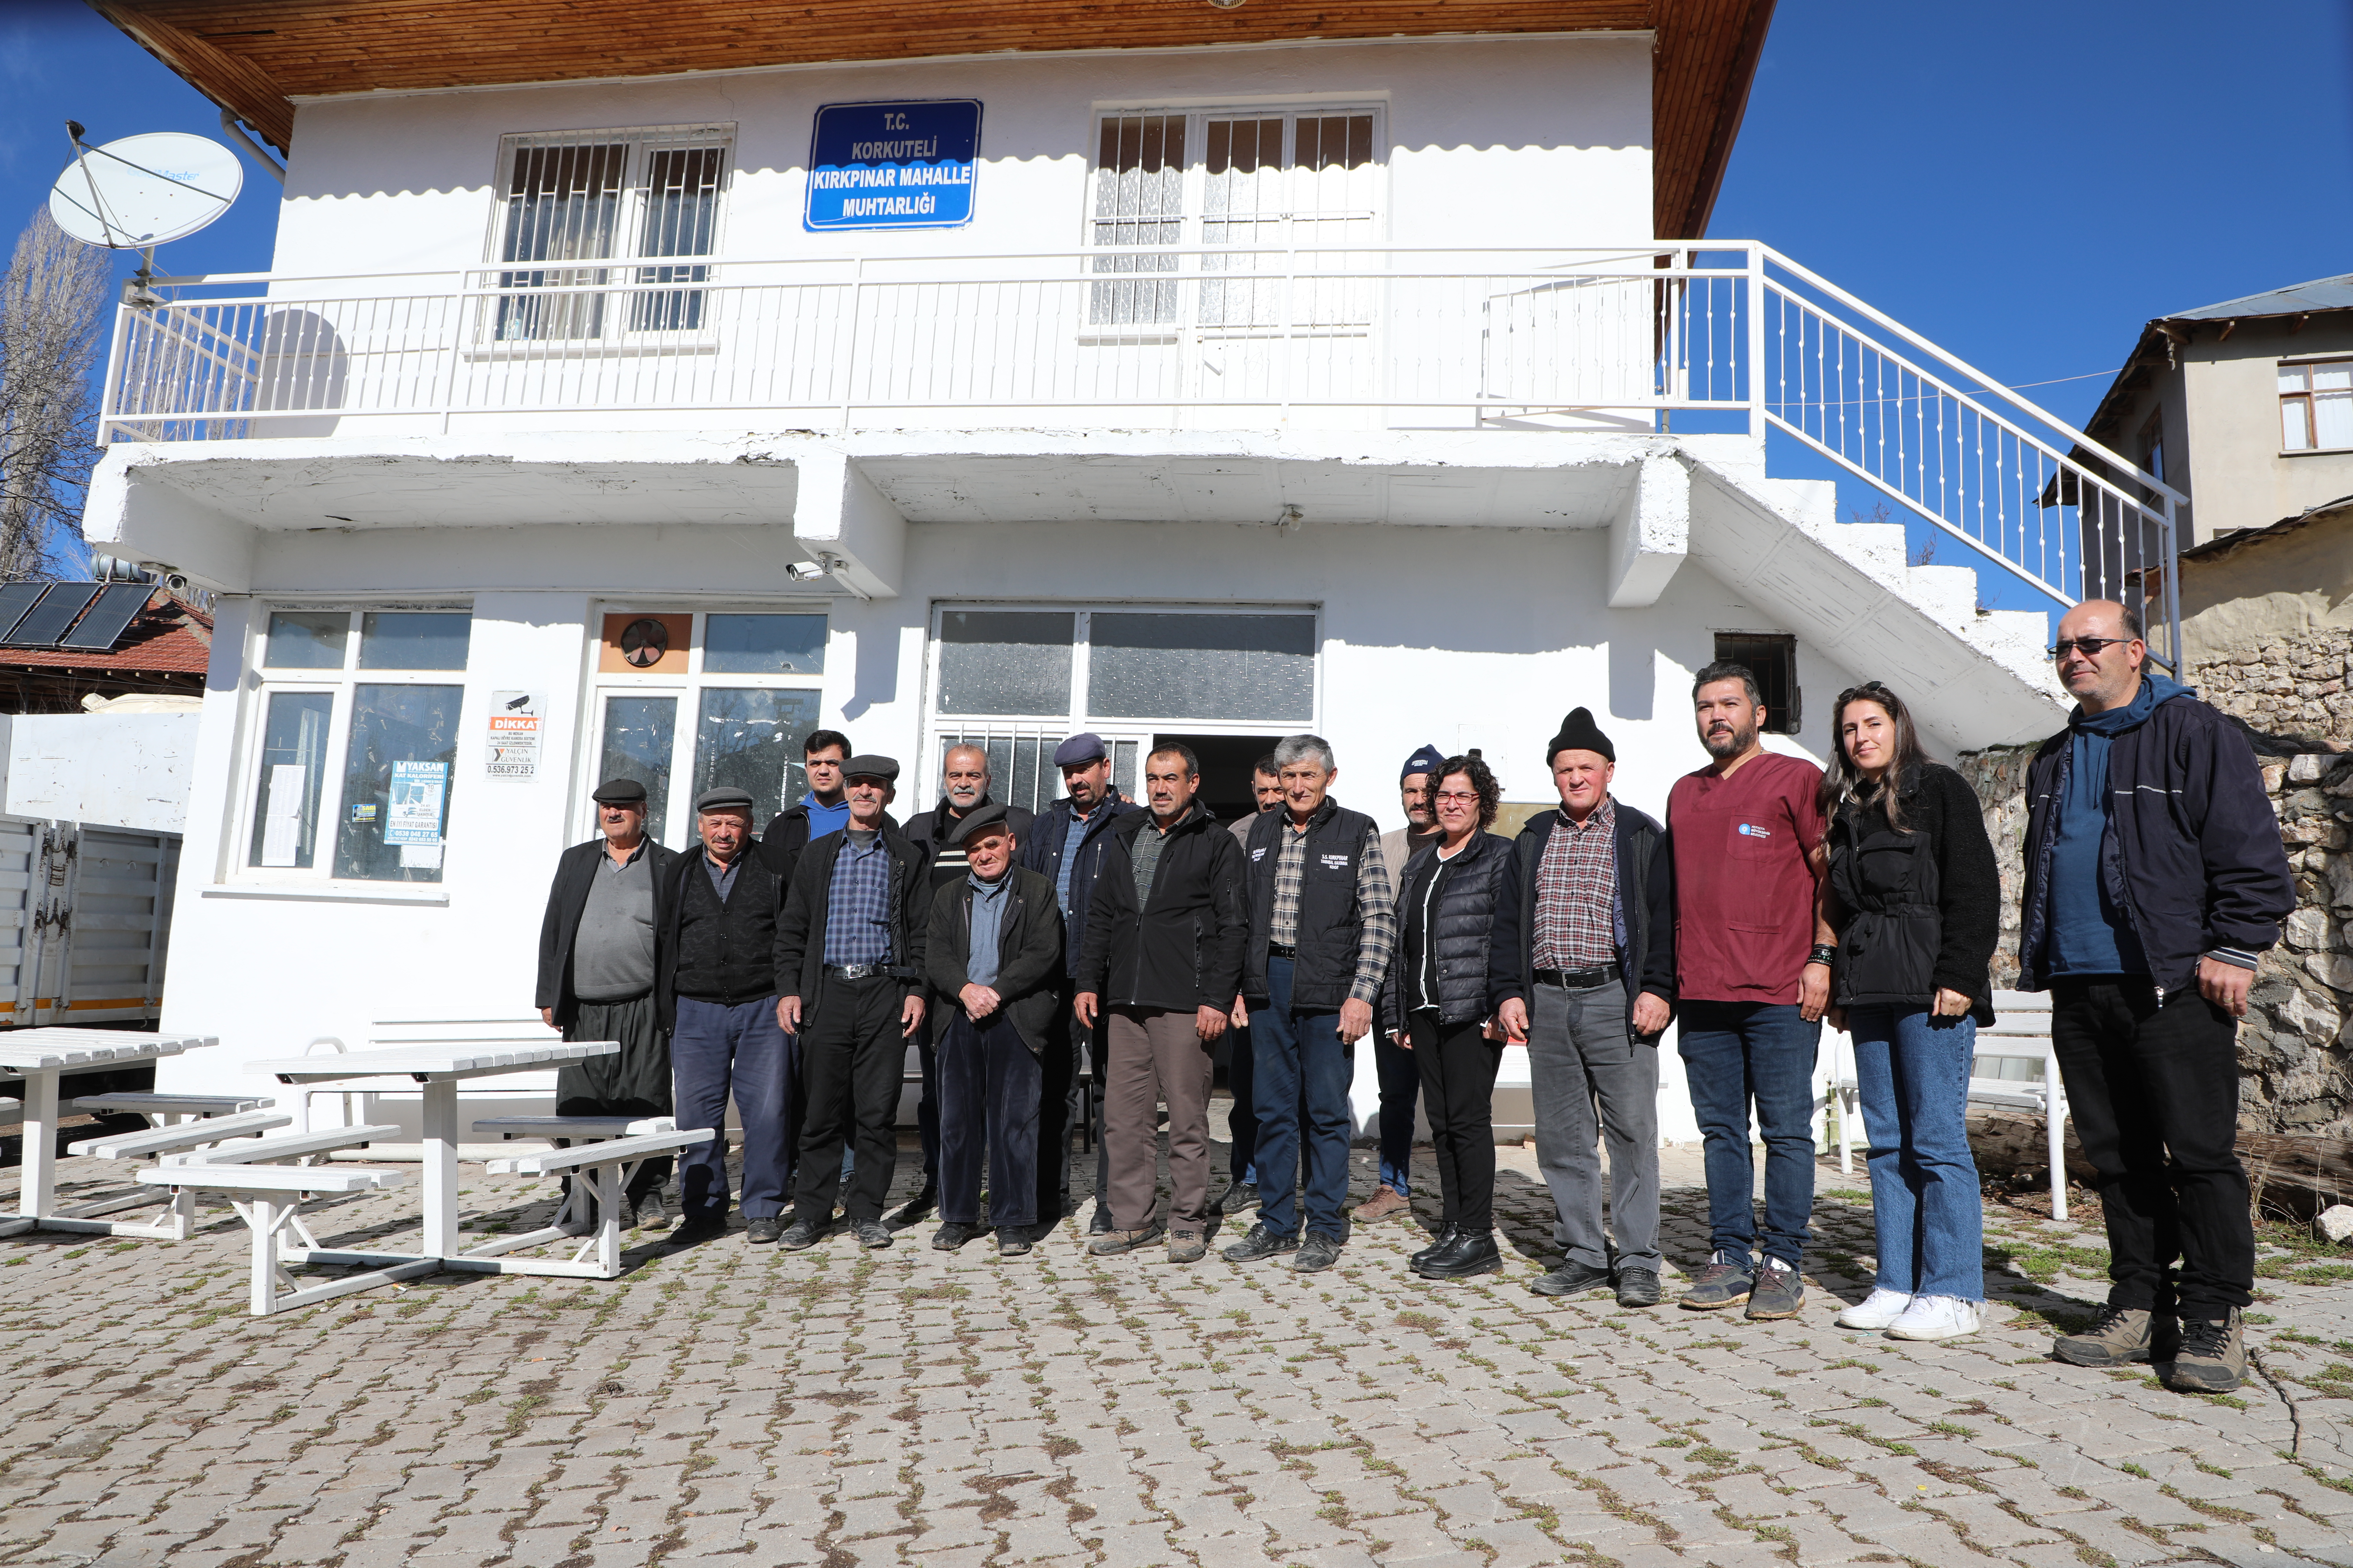
M 1054 748 L 1054 766 L 1061 769 L 1064 797 L 1038 813 L 1028 839 L 1021 844 L 1021 865 L 1054 884 L 1054 903 L 1061 905 L 1064 926 L 1064 980 L 1059 1006 L 1054 1009 L 1054 1032 L 1045 1041 L 1045 1098 L 1038 1110 L 1038 1225 L 1054 1225 L 1071 1213 L 1071 1128 L 1078 1124 L 1078 1048 L 1089 1044 L 1089 1030 L 1071 1016 L 1071 999 L 1078 985 L 1080 943 L 1087 933 L 1087 907 L 1094 879 L 1104 870 L 1104 849 L 1111 823 L 1136 806 L 1120 799 L 1111 788 L 1111 752 L 1104 738 L 1075 733 Z M 1101 1081 L 1101 1058 L 1096 1081 Z M 1101 1114 L 1094 1133 L 1094 1218 L 1087 1234 L 1111 1229 L 1111 1164 L 1104 1152 Z

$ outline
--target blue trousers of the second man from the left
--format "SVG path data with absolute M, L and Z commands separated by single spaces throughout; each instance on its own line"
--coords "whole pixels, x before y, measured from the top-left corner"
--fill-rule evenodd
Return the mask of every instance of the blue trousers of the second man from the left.
M 776 1027 L 776 999 L 678 999 L 671 1030 L 671 1072 L 678 1077 L 678 1126 L 720 1128 L 678 1164 L 678 1208 L 687 1220 L 727 1218 L 727 1095 L 744 1124 L 744 1218 L 784 1213 L 786 1171 L 793 1164 L 795 1053 Z

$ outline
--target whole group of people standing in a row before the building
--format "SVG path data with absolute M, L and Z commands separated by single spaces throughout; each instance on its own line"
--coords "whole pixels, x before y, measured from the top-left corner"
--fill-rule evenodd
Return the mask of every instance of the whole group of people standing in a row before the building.
M 2235 1020 L 2294 905 L 2287 863 L 2242 731 L 2148 668 L 2129 607 L 2075 607 L 2052 656 L 2080 705 L 2028 773 L 2019 985 L 2054 992 L 2113 1258 L 2108 1307 L 2057 1354 L 2153 1359 L 2177 1387 L 2221 1392 L 2245 1375 L 2254 1284 Z M 1019 1255 L 1071 1213 L 1085 1051 L 1089 1251 L 1158 1244 L 1195 1262 L 1212 1220 L 1257 1208 L 1224 1255 L 1315 1272 L 1353 1225 L 1407 1211 L 1419 1100 L 1440 1213 L 1412 1269 L 1464 1279 L 1504 1262 L 1489 1105 L 1501 1053 L 1525 1048 L 1562 1253 L 1529 1288 L 1652 1307 L 1659 1039 L 1675 1025 L 1711 1227 L 1678 1300 L 1788 1319 L 1805 1300 L 1828 1018 L 1854 1039 L 1878 1225 L 1875 1288 L 1838 1321 L 1974 1333 L 1965 1103 L 2000 933 L 1979 802 L 1880 682 L 1838 696 L 1826 769 L 1765 750 L 1741 665 L 1701 670 L 1692 710 L 1708 764 L 1675 780 L 1664 823 L 1612 795 L 1617 750 L 1579 708 L 1546 745 L 1558 809 L 1511 839 L 1492 832 L 1501 785 L 1480 752 L 1414 752 L 1407 825 L 1384 837 L 1332 797 L 1339 764 L 1318 736 L 1259 762 L 1259 811 L 1235 823 L 1200 802 L 1184 745 L 1151 752 L 1144 802 L 1122 799 L 1092 733 L 1061 743 L 1064 797 L 1035 818 L 988 799 L 979 748 L 951 748 L 939 806 L 901 830 L 899 764 L 816 731 L 805 802 L 753 839 L 751 797 L 711 790 L 685 856 L 645 837 L 642 785 L 612 780 L 595 792 L 602 842 L 558 867 L 539 1001 L 567 1037 L 624 1048 L 567 1067 L 558 1110 L 720 1126 L 734 1093 L 748 1241 L 812 1246 L 840 1199 L 864 1246 L 936 1208 L 934 1246 L 993 1229 Z M 1367 1034 L 1381 1164 L 1348 1208 Z M 925 1182 L 885 1220 L 908 1039 Z M 1219 1046 L 1231 1171 L 1212 1199 Z M 725 1229 L 722 1150 L 685 1159 L 680 1241 Z M 661 1220 L 664 1175 L 638 1173 L 633 1222 Z

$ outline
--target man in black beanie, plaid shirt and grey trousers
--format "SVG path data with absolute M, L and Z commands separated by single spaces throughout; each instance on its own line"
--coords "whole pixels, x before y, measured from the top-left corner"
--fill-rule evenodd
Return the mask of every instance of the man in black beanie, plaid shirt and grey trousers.
M 1520 830 L 1494 893 L 1487 999 L 1527 1046 L 1537 1168 L 1567 1260 L 1537 1295 L 1659 1305 L 1659 1034 L 1675 1001 L 1666 830 L 1609 797 L 1617 748 L 1579 708 L 1546 748 L 1560 811 Z M 1595 1105 L 1600 1124 L 1595 1126 Z M 1609 1145 L 1609 1232 L 1595 1133 Z

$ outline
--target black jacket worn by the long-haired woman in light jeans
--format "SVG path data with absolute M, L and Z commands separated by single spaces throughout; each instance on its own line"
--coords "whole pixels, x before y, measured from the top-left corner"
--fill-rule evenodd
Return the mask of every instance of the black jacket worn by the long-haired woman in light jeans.
M 1946 987 L 1969 997 L 1969 1016 L 1991 1027 L 2002 872 L 1977 790 L 1929 762 L 1904 778 L 1897 799 L 1904 832 L 1878 799 L 1845 802 L 1831 816 L 1831 997 L 1838 1006 L 1927 1006 Z

